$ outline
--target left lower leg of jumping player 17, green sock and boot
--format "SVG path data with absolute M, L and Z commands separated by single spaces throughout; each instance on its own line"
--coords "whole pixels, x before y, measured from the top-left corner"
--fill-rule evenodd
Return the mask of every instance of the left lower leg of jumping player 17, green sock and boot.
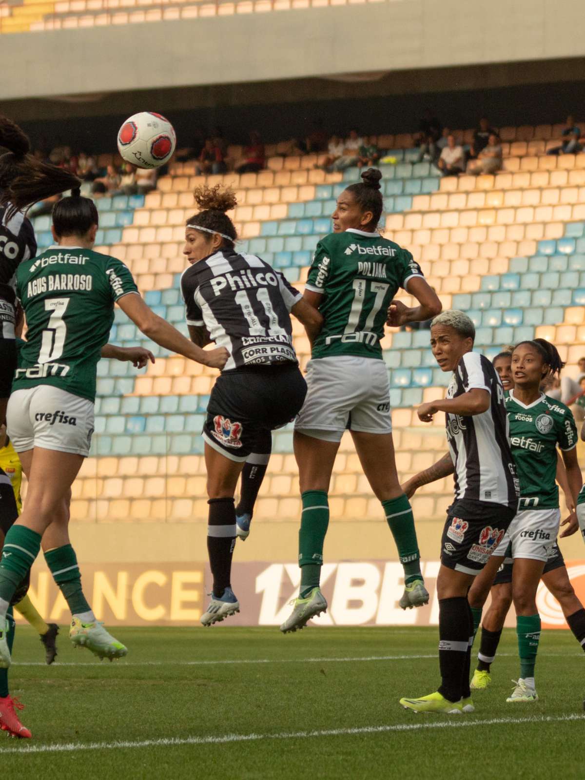
M 329 503 L 325 491 L 305 491 L 299 531 L 300 592 L 293 612 L 282 623 L 282 633 L 303 629 L 311 618 L 326 612 L 327 601 L 320 590 L 323 544 L 329 525 Z

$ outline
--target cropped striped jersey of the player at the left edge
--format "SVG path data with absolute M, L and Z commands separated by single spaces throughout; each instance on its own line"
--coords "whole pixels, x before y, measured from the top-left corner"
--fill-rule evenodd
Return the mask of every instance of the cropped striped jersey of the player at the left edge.
M 33 225 L 20 211 L 8 219 L 9 204 L 0 207 L 0 338 L 14 339 L 16 268 L 37 254 Z

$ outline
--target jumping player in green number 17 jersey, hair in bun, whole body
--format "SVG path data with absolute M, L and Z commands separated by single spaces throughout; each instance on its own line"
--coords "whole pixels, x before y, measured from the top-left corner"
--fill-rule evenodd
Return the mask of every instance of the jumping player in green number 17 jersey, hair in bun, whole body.
M 441 311 L 412 254 L 378 232 L 381 172 L 343 190 L 333 232 L 317 244 L 304 297 L 324 317 L 307 365 L 307 399 L 294 434 L 303 514 L 299 534 L 300 594 L 282 632 L 296 631 L 327 608 L 319 589 L 329 522 L 328 489 L 343 432 L 358 457 L 392 530 L 405 571 L 402 608 L 428 601 L 420 573 L 413 512 L 400 488 L 392 443 L 388 371 L 380 341 L 384 326 L 424 321 Z M 405 289 L 420 303 L 394 300 Z

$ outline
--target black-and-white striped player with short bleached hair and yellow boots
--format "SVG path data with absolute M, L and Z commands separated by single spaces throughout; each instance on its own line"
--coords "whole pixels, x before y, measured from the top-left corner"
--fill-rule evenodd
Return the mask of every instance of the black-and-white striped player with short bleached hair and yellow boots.
M 420 486 L 455 473 L 455 501 L 447 512 L 437 579 L 441 687 L 428 696 L 400 700 L 415 712 L 473 712 L 473 617 L 467 591 L 518 506 L 502 383 L 490 361 L 472 351 L 474 338 L 473 322 L 462 311 L 446 311 L 431 323 L 434 358 L 453 375 L 447 398 L 423 403 L 417 412 L 423 422 L 445 412 L 449 453 L 404 485 L 406 495 L 413 495 Z

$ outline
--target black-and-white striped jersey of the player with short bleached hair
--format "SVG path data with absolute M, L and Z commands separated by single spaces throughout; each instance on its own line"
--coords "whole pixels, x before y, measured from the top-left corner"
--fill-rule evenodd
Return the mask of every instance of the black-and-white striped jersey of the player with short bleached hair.
M 447 440 L 455 466 L 456 501 L 500 504 L 517 509 L 519 483 L 510 449 L 504 388 L 488 358 L 476 352 L 468 352 L 459 360 L 447 398 L 456 398 L 472 388 L 490 393 L 488 410 L 473 417 L 445 415 Z

